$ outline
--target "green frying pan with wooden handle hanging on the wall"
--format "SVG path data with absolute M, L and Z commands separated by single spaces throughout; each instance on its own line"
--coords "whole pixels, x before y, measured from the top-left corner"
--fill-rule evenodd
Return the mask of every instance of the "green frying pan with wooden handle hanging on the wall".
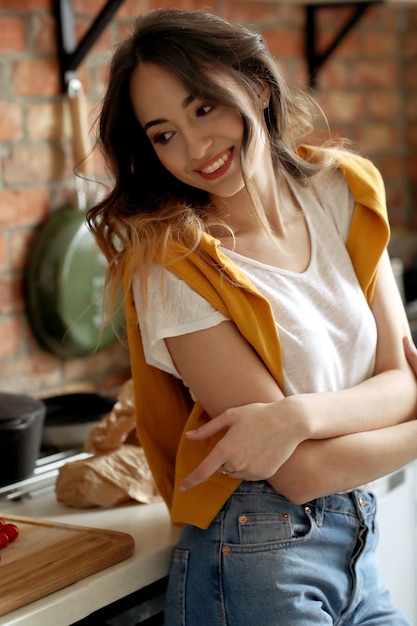
M 71 79 L 68 101 L 74 135 L 77 206 L 58 209 L 43 225 L 29 256 L 27 311 L 42 345 L 61 358 L 108 347 L 115 332 L 103 324 L 106 261 L 85 222 L 89 142 L 81 83 Z

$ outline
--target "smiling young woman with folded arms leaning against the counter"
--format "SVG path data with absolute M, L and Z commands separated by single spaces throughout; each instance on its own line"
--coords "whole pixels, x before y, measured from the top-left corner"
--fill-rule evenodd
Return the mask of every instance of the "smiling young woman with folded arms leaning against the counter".
M 88 215 L 124 304 L 138 433 L 184 524 L 169 626 L 405 625 L 370 481 L 417 457 L 409 334 L 369 161 L 302 145 L 312 103 L 261 37 L 141 17 L 100 118 Z

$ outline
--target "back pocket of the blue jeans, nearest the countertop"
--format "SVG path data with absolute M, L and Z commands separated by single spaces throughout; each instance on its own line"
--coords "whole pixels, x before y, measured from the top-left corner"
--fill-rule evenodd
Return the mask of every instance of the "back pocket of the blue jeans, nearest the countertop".
M 165 626 L 185 626 L 185 585 L 189 556 L 189 550 L 174 550 L 165 597 Z

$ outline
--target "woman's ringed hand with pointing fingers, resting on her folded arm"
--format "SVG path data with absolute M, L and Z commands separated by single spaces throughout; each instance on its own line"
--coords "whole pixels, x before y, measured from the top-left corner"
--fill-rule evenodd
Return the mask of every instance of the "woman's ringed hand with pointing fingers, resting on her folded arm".
M 245 480 L 273 476 L 309 437 L 303 415 L 290 414 L 285 408 L 285 399 L 231 408 L 198 430 L 188 431 L 187 437 L 193 440 L 209 439 L 222 431 L 224 435 L 180 489 L 195 487 L 216 471 Z M 282 417 L 277 419 L 279 413 Z

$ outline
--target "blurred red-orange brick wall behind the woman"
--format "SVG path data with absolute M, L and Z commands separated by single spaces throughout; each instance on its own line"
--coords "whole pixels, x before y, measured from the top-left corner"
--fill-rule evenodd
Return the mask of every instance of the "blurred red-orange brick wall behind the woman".
M 74 0 L 77 37 L 104 0 Z M 287 80 L 307 85 L 302 6 L 273 0 L 125 0 L 78 69 L 93 120 L 112 46 L 135 15 L 177 6 L 210 10 L 260 30 Z M 321 9 L 325 46 L 352 12 Z M 316 95 L 334 131 L 381 169 L 392 225 L 417 230 L 417 8 L 377 4 L 317 76 Z M 71 125 L 60 92 L 52 0 L 0 0 L 0 389 L 41 393 L 109 388 L 128 376 L 126 348 L 60 359 L 36 340 L 25 311 L 24 276 L 36 229 L 74 202 Z

